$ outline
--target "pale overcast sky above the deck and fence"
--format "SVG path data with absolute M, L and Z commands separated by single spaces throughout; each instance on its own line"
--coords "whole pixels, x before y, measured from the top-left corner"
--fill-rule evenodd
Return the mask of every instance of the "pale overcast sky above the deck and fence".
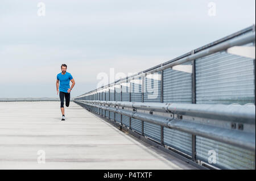
M 61 64 L 77 96 L 110 68 L 137 73 L 253 24 L 255 0 L 1 0 L 0 97 L 56 97 Z

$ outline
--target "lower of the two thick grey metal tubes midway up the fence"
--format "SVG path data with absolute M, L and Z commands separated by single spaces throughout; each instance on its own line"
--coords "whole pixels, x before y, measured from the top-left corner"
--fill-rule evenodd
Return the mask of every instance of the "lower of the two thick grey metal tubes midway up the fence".
M 119 108 L 93 104 L 92 102 L 88 102 L 88 101 L 76 100 L 76 102 L 87 104 L 88 106 L 98 107 L 107 111 L 120 113 L 122 115 L 130 116 L 134 119 L 139 119 L 142 121 L 147 121 L 149 123 L 158 124 L 163 127 L 176 129 L 179 131 L 195 134 L 198 136 L 203 136 L 212 140 L 238 146 L 240 148 L 255 150 L 255 133 L 241 132 L 241 131 L 236 131 L 236 130 L 231 130 L 226 128 L 214 127 L 213 125 L 193 123 L 187 120 L 179 120 L 175 118 L 171 119 L 163 116 L 155 116 L 155 115 L 150 115 L 150 114 L 141 113 L 141 112 L 131 112 L 131 111 L 122 110 Z M 217 105 L 217 106 L 220 106 L 220 105 Z

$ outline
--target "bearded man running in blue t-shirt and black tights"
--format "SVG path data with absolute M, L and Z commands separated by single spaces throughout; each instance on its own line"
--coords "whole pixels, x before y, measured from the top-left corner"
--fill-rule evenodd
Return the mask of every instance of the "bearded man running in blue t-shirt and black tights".
M 62 64 L 60 66 L 61 73 L 57 74 L 57 81 L 56 81 L 56 89 L 57 89 L 57 95 L 60 91 L 60 109 L 62 113 L 62 119 L 61 121 L 65 121 L 65 115 L 64 115 L 64 97 L 66 101 L 66 106 L 69 106 L 70 102 L 70 92 L 75 86 L 75 81 L 70 73 L 67 72 L 67 65 Z M 60 81 L 60 89 L 59 89 L 59 81 Z M 72 82 L 72 86 L 69 86 L 69 81 Z

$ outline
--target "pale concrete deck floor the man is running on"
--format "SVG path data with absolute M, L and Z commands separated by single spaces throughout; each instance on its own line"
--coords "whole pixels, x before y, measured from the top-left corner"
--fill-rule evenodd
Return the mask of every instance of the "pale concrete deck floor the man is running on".
M 0 169 L 196 169 L 76 103 L 65 116 L 60 102 L 0 102 Z

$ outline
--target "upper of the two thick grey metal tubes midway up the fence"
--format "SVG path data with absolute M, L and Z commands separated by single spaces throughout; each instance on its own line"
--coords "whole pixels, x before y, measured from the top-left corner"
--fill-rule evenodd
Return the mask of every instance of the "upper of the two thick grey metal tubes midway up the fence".
M 187 116 L 205 117 L 227 121 L 255 124 L 255 106 L 217 105 L 217 104 L 185 104 L 185 103 L 140 103 L 81 100 L 87 103 L 107 104 L 138 110 L 171 112 Z

